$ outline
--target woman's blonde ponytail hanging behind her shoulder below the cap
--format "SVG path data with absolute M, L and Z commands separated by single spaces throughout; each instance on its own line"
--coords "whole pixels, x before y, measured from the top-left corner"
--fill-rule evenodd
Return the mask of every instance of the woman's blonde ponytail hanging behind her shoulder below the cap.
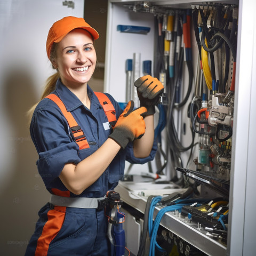
M 51 50 L 51 54 L 50 54 L 51 63 L 53 62 L 53 60 L 55 60 L 57 58 L 57 45 L 58 45 L 58 43 L 53 43 L 53 45 L 52 45 L 52 50 Z M 55 69 L 53 65 L 52 65 L 52 68 Z M 44 99 L 47 95 L 49 95 L 50 93 L 52 93 L 55 90 L 55 85 L 56 85 L 56 82 L 59 77 L 60 77 L 60 75 L 57 70 L 57 73 L 54 73 L 53 75 L 51 75 L 50 77 L 47 78 L 46 84 L 44 87 L 44 91 L 43 91 L 43 94 L 41 95 L 40 100 L 34 106 L 32 106 L 27 112 L 29 122 L 31 122 L 31 118 L 33 116 L 33 113 L 34 113 L 35 108 L 38 105 L 38 103 L 42 99 Z

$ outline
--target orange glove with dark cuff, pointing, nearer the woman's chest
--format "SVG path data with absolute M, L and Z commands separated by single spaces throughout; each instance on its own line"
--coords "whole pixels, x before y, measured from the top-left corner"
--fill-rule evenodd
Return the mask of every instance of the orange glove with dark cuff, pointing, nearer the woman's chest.
M 139 139 L 145 133 L 146 125 L 143 118 L 147 115 L 147 109 L 133 108 L 134 102 L 131 100 L 119 116 L 113 133 L 109 135 L 109 138 L 115 140 L 122 148 L 125 148 L 129 141 Z

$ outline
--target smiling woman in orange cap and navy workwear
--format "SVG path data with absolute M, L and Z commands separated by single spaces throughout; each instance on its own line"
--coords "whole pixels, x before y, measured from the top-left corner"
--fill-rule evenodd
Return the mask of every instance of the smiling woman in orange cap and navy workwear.
M 76 17 L 65 17 L 49 30 L 46 51 L 57 73 L 32 109 L 30 135 L 38 172 L 52 196 L 38 213 L 26 256 L 113 255 L 108 218 L 98 202 L 117 186 L 126 160 L 142 164 L 156 153 L 154 113 L 147 115 L 146 107 L 133 110 L 133 101 L 123 111 L 111 95 L 94 93 L 87 84 L 98 37 Z M 162 90 L 157 79 L 154 83 Z M 142 99 L 142 106 L 147 101 Z

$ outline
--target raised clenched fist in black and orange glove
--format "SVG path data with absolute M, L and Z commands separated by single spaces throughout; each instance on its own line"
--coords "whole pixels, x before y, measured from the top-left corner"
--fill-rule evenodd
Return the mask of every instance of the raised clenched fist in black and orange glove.
M 140 107 L 147 108 L 147 115 L 155 114 L 155 105 L 158 104 L 160 95 L 164 92 L 163 84 L 150 75 L 142 76 L 134 82 L 140 100 Z

